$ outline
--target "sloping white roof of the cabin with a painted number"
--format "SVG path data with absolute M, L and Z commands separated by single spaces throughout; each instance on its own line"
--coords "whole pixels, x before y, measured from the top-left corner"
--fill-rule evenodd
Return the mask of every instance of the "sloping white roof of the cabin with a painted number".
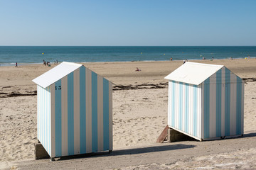
M 50 69 L 48 72 L 36 77 L 36 79 L 33 79 L 32 81 L 39 86 L 46 88 L 81 66 L 82 64 L 76 64 L 73 62 L 62 62 L 58 64 L 58 66 L 53 67 L 53 69 Z

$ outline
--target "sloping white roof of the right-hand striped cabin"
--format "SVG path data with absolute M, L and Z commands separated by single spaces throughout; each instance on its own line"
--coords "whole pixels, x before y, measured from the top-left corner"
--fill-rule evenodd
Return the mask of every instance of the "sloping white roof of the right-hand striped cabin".
M 215 74 L 223 65 L 202 64 L 197 62 L 186 62 L 178 67 L 178 69 L 171 72 L 164 79 L 179 81 L 187 84 L 199 85 L 203 83 L 208 77 Z

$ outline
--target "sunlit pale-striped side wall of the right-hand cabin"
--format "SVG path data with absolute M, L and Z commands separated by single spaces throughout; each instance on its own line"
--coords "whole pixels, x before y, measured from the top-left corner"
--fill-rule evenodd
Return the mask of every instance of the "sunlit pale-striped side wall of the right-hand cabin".
M 169 81 L 168 125 L 201 139 L 201 86 Z

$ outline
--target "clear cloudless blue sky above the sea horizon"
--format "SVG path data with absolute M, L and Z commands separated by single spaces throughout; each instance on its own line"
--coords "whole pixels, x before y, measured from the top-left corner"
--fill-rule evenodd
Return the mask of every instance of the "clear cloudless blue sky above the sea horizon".
M 0 45 L 256 45 L 256 0 L 0 0 Z

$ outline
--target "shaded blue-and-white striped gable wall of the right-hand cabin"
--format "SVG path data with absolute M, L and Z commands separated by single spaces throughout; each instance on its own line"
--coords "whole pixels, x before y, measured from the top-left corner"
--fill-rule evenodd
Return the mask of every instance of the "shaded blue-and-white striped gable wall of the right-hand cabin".
M 202 84 L 202 138 L 243 134 L 244 83 L 223 67 Z

